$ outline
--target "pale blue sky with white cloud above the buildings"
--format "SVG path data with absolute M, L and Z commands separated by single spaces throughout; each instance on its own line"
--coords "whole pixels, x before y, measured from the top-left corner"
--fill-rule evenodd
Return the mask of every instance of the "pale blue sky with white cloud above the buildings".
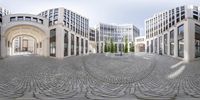
M 134 24 L 144 35 L 144 20 L 155 13 L 182 5 L 199 5 L 200 0 L 0 0 L 11 13 L 39 14 L 65 7 L 89 18 L 90 27 L 98 23 Z

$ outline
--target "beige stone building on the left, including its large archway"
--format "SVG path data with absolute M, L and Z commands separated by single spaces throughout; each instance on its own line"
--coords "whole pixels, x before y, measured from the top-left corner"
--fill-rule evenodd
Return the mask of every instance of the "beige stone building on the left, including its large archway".
M 0 16 L 1 57 L 26 52 L 64 58 L 89 52 L 86 17 L 65 8 L 49 9 L 38 15 L 2 11 L 5 12 Z

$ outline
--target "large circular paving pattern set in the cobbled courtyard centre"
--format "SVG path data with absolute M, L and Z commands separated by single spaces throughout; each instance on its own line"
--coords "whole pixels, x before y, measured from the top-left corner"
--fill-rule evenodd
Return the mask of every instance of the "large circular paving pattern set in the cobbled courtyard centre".
M 108 83 L 133 83 L 145 78 L 154 61 L 138 56 L 113 57 L 91 55 L 84 59 L 85 69 L 95 78 Z

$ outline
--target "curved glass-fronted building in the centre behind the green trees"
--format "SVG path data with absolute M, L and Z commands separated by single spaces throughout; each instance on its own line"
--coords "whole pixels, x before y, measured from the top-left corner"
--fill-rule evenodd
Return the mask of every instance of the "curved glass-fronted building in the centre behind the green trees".
M 100 23 L 96 26 L 97 53 L 104 53 L 106 43 L 112 40 L 115 52 L 123 51 L 125 39 L 128 41 L 128 52 L 134 44 L 135 37 L 140 35 L 140 30 L 132 24 L 112 25 Z

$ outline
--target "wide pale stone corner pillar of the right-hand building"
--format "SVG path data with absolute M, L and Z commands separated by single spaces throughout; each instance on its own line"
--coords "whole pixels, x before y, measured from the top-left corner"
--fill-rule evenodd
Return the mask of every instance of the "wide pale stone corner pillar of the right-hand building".
M 188 19 L 184 23 L 184 61 L 195 59 L 195 23 Z

